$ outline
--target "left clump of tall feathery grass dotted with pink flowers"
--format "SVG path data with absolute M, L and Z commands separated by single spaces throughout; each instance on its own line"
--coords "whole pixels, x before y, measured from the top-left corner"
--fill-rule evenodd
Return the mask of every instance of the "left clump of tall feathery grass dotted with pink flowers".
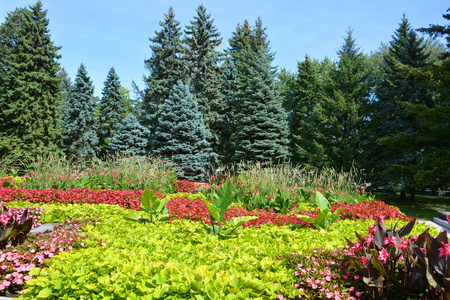
M 67 190 L 163 190 L 173 192 L 175 172 L 160 158 L 108 156 L 104 161 L 65 161 L 52 156 L 27 162 L 23 187 Z

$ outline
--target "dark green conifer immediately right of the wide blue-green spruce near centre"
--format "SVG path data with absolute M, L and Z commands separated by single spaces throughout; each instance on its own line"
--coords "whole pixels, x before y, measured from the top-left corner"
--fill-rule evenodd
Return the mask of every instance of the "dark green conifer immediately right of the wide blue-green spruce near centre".
M 323 167 L 327 164 L 318 112 L 323 105 L 324 92 L 317 71 L 306 55 L 298 64 L 298 74 L 291 83 L 289 95 L 289 127 L 292 163 Z

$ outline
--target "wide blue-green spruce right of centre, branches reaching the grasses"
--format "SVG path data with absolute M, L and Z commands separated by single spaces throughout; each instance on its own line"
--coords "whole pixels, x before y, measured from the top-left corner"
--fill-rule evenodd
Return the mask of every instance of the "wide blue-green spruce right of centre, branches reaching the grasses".
M 282 163 L 288 159 L 287 122 L 265 48 L 246 58 L 246 85 L 239 89 L 234 160 Z M 238 77 L 239 78 L 239 77 Z M 238 80 L 241 80 L 239 78 Z M 241 85 L 239 85 L 241 86 Z

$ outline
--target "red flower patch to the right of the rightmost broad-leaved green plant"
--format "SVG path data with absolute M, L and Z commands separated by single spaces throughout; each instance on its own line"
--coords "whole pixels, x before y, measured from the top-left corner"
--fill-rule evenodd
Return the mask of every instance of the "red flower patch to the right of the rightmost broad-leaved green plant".
M 359 204 L 333 203 L 331 205 L 331 210 L 334 212 L 336 209 L 341 207 L 344 208 L 339 217 L 341 220 L 379 220 L 380 218 L 398 218 L 401 220 L 408 219 L 397 207 L 389 206 L 380 200 L 366 200 Z

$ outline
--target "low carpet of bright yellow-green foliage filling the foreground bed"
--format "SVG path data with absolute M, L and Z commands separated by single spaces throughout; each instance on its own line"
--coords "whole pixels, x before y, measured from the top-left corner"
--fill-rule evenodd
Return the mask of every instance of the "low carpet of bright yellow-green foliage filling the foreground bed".
M 43 205 L 44 206 L 44 205 Z M 62 252 L 49 268 L 32 269 L 35 278 L 19 299 L 273 299 L 295 297 L 293 270 L 276 256 L 335 249 L 354 232 L 367 234 L 366 221 L 340 221 L 328 231 L 263 226 L 241 229 L 237 238 L 219 240 L 201 223 L 139 224 L 119 207 L 45 205 L 44 219 L 100 218 L 87 226 L 86 248 Z M 98 214 L 103 216 L 98 216 Z M 406 223 L 405 223 L 406 224 Z M 390 226 L 388 223 L 387 226 Z M 426 226 L 416 226 L 419 234 Z M 100 242 L 105 246 L 100 247 Z

